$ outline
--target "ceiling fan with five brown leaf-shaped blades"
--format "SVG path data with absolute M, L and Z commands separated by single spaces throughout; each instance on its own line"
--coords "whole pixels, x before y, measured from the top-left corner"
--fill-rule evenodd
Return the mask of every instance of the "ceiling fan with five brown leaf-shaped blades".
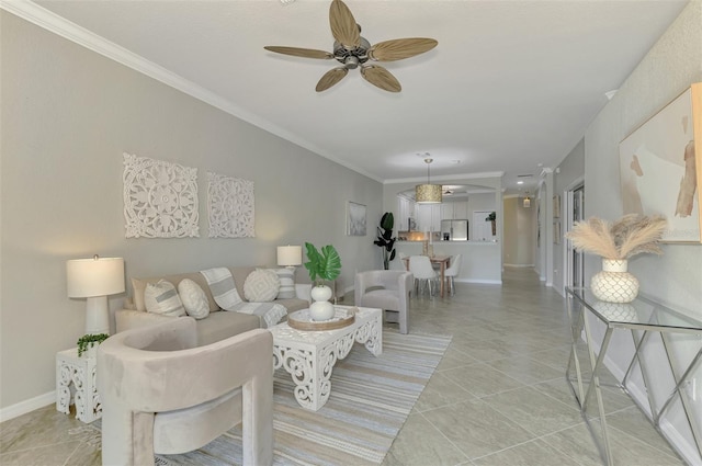
M 317 92 L 326 91 L 341 81 L 350 69 L 361 67 L 361 76 L 371 84 L 384 91 L 399 92 L 399 81 L 384 67 L 372 61 L 395 61 L 414 57 L 434 48 L 433 38 L 409 37 L 380 42 L 371 45 L 361 37 L 361 26 L 356 24 L 351 10 L 341 0 L 333 0 L 329 7 L 329 23 L 335 38 L 333 53 L 312 48 L 285 47 L 269 45 L 263 48 L 278 54 L 303 58 L 336 59 L 342 66 L 327 71 L 315 88 Z

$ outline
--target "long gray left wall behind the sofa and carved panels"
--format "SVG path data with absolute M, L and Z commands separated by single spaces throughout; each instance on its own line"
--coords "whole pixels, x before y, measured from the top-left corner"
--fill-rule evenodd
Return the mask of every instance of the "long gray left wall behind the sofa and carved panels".
M 381 266 L 380 183 L 1 10 L 0 21 L 0 408 L 54 390 L 55 353 L 83 334 L 68 259 L 123 257 L 131 277 L 271 265 L 276 246 L 310 241 L 337 247 L 347 288 Z M 199 169 L 200 238 L 125 239 L 125 151 Z M 256 183 L 256 238 L 207 238 L 206 171 Z M 348 201 L 367 206 L 367 236 L 344 235 Z

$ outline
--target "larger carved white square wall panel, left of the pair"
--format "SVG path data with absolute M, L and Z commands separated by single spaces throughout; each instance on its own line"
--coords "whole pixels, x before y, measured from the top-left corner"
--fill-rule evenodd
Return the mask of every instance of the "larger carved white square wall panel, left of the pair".
M 127 238 L 199 237 L 197 169 L 124 154 Z

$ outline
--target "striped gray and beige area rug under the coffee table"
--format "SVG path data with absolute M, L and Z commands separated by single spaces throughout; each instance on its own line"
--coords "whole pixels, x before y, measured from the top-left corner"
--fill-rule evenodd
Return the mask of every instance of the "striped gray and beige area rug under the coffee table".
M 383 332 L 383 354 L 355 344 L 331 375 L 331 396 L 319 411 L 301 408 L 294 384 L 275 373 L 275 465 L 377 465 L 383 462 L 451 337 Z M 159 455 L 157 465 L 240 465 L 241 430 L 202 448 Z

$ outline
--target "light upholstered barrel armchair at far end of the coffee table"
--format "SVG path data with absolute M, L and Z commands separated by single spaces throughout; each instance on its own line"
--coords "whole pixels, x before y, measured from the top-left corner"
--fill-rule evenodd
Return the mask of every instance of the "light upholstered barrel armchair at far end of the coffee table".
M 353 284 L 356 306 L 385 310 L 385 320 L 398 322 L 399 332 L 409 331 L 409 292 L 412 274 L 400 270 L 370 270 L 355 274 Z

